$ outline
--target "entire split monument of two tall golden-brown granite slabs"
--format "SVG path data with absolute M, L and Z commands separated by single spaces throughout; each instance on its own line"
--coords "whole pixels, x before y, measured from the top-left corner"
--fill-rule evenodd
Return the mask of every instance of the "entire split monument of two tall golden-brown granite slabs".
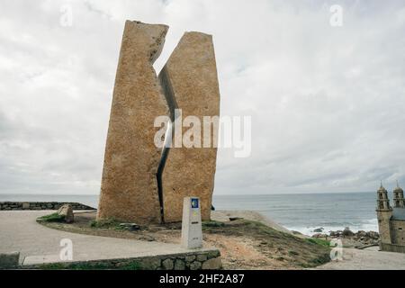
M 186 196 L 199 197 L 202 220 L 210 219 L 217 154 L 213 135 L 218 126 L 211 127 L 209 148 L 203 148 L 201 135 L 201 139 L 194 139 L 201 140 L 201 148 L 162 151 L 154 143 L 158 130 L 154 120 L 170 115 L 175 121 L 175 109 L 181 109 L 183 119 L 195 116 L 201 123 L 203 116 L 219 116 L 212 38 L 199 32 L 184 33 L 157 79 L 152 64 L 163 47 L 166 31 L 165 25 L 125 24 L 98 219 L 113 217 L 140 224 L 181 220 Z M 187 129 L 177 127 L 174 131 Z

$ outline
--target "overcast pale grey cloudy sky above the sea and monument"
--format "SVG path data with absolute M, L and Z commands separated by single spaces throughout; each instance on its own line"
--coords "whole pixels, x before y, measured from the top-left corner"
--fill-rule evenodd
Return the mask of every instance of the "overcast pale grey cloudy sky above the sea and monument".
M 1 0 L 0 193 L 99 193 L 127 19 L 170 26 L 157 71 L 184 31 L 213 35 L 221 115 L 252 117 L 251 156 L 220 149 L 215 193 L 405 185 L 401 0 Z

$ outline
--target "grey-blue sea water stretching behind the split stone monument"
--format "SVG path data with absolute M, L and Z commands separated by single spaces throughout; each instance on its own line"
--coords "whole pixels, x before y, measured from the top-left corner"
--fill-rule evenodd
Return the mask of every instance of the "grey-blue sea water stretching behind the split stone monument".
M 81 202 L 94 208 L 98 195 L 1 194 L 1 201 Z M 378 230 L 375 213 L 376 193 L 283 193 L 266 195 L 215 195 L 216 210 L 258 211 L 287 229 L 306 235 L 314 229 L 325 232 L 349 227 Z

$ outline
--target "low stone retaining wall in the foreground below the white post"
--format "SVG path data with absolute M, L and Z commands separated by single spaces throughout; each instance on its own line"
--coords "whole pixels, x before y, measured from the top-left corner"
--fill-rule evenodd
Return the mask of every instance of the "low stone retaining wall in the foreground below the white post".
M 140 270 L 219 270 L 222 268 L 220 251 L 217 249 L 196 250 L 186 253 L 160 255 L 154 257 L 134 257 L 126 259 L 106 259 L 86 262 L 59 263 L 62 269 L 85 264 L 87 267 L 106 266 L 107 269 L 120 269 L 136 263 Z M 23 269 L 47 269 L 48 265 L 21 266 Z

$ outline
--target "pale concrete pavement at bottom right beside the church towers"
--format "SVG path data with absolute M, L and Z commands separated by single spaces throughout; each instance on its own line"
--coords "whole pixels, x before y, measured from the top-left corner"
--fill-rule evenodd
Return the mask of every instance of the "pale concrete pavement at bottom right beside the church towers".
M 316 269 L 323 270 L 405 270 L 405 254 L 378 251 L 378 247 L 364 250 L 343 249 L 343 260 L 332 261 Z

